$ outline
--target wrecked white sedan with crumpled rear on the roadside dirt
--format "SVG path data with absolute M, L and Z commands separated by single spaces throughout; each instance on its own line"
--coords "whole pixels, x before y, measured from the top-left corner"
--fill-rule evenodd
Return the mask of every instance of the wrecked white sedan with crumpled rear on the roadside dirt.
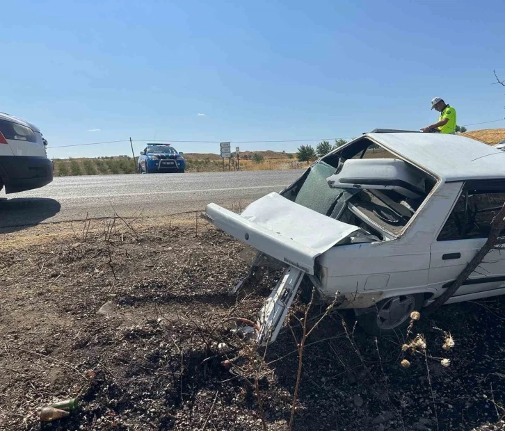
M 505 153 L 456 135 L 365 133 L 313 163 L 241 215 L 209 204 L 216 227 L 257 250 L 246 279 L 284 268 L 259 311 L 275 340 L 300 285 L 355 310 L 370 334 L 392 334 L 474 257 L 505 202 Z M 505 253 L 492 250 L 447 303 L 505 293 Z

